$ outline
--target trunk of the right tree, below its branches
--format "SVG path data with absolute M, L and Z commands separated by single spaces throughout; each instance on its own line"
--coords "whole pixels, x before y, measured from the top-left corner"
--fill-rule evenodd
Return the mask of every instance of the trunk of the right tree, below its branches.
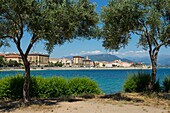
M 150 57 L 151 59 L 151 62 L 152 62 L 152 76 L 151 76 L 151 81 L 149 83 L 149 86 L 148 86 L 148 89 L 150 91 L 153 90 L 154 88 L 154 84 L 155 84 L 155 81 L 156 81 L 156 70 L 157 70 L 157 56 L 156 55 L 152 55 Z

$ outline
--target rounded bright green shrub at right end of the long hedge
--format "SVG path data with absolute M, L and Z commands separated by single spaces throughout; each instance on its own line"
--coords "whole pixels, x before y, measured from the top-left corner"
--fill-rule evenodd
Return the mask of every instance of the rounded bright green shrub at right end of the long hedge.
M 87 77 L 72 78 L 68 81 L 68 86 L 70 93 L 73 95 L 101 93 L 98 84 Z

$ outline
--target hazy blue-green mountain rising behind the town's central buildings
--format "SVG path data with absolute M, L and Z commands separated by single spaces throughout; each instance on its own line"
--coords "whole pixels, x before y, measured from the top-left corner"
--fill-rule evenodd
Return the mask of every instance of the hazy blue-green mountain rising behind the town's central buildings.
M 92 61 L 107 61 L 107 62 L 111 62 L 114 60 L 121 60 L 123 62 L 132 62 L 129 59 L 126 58 L 119 58 L 116 55 L 111 55 L 111 54 L 98 54 L 98 55 L 85 55 L 88 56 L 89 59 L 91 59 Z M 83 57 L 85 57 L 83 56 Z M 72 56 L 67 56 L 65 58 L 69 58 L 72 59 Z

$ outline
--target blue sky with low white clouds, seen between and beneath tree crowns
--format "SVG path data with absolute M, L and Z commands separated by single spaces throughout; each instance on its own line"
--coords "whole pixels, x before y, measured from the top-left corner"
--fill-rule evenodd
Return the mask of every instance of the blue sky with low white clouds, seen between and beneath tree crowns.
M 91 0 L 91 2 L 95 2 L 97 7 L 96 11 L 100 12 L 102 6 L 107 5 L 107 0 Z M 27 42 L 29 40 L 30 35 L 25 33 L 24 39 L 21 43 L 22 48 L 27 47 Z M 144 51 L 141 47 L 137 47 L 138 36 L 133 36 L 130 40 L 128 46 L 120 49 L 119 51 L 108 51 L 102 46 L 102 40 L 73 40 L 71 43 L 66 42 L 65 44 L 58 46 L 56 45 L 53 52 L 50 54 L 51 58 L 62 58 L 65 56 L 73 56 L 73 55 L 94 55 L 94 54 L 114 54 L 121 58 L 126 57 L 144 57 L 148 56 L 148 51 Z M 2 47 L 0 48 L 0 53 L 6 52 L 18 52 L 16 46 L 11 42 L 11 47 Z M 44 44 L 42 41 L 36 43 L 32 48 L 31 52 L 40 52 L 47 53 L 44 49 Z M 170 55 L 170 48 L 162 47 L 159 54 Z

